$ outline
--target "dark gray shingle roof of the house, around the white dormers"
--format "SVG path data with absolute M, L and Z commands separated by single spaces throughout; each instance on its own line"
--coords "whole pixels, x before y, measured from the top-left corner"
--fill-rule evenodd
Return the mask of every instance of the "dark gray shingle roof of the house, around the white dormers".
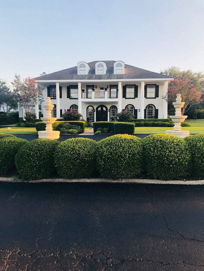
M 131 65 L 125 64 L 124 74 L 114 74 L 113 64 L 115 61 L 107 60 L 107 70 L 104 75 L 95 74 L 95 64 L 98 61 L 89 62 L 89 73 L 87 75 L 77 75 L 77 66 L 68 68 L 61 71 L 56 71 L 43 76 L 36 77 L 36 80 L 111 80 L 111 79 L 161 79 L 172 78 L 170 76 L 156 73 L 153 71 L 147 71 Z

